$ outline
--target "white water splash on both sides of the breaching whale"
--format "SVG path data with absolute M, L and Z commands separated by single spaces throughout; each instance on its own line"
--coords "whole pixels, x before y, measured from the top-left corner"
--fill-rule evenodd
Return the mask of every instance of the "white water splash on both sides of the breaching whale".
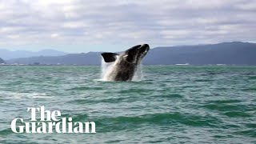
M 102 58 L 102 74 L 100 81 L 113 81 L 111 78 L 111 73 L 114 71 L 114 67 L 118 62 L 118 58 L 115 62 L 105 62 Z M 142 65 L 138 64 L 137 70 L 135 71 L 133 82 L 142 81 L 143 73 L 142 73 Z

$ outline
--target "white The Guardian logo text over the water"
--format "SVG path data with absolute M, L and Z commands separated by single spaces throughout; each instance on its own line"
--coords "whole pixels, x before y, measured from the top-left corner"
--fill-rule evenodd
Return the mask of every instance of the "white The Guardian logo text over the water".
M 44 106 L 39 108 L 29 107 L 31 112 L 29 122 L 23 118 L 15 118 L 11 122 L 11 130 L 14 133 L 96 133 L 95 122 L 72 122 L 72 118 L 57 118 L 61 112 L 45 110 Z M 36 115 L 40 113 L 40 119 Z M 45 115 L 46 114 L 46 115 Z

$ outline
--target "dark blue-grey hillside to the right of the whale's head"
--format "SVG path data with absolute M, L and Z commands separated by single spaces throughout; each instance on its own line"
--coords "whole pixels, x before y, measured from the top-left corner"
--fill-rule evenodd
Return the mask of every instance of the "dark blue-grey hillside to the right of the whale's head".
M 157 47 L 150 50 L 144 63 L 150 65 L 180 63 L 256 65 L 256 44 L 223 42 L 212 45 Z

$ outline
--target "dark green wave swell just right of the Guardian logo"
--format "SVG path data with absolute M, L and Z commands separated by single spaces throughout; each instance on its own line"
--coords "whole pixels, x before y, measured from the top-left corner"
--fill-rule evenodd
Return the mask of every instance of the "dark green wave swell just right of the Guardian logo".
M 199 127 L 218 127 L 218 118 L 211 116 L 200 116 L 181 113 L 163 114 L 144 114 L 134 117 L 121 116 L 114 118 L 99 118 L 96 120 L 102 130 L 127 130 L 131 127 L 141 127 L 145 125 L 155 126 L 199 126 Z M 106 129 L 107 127 L 107 129 Z M 118 129 L 116 129 L 118 127 Z

